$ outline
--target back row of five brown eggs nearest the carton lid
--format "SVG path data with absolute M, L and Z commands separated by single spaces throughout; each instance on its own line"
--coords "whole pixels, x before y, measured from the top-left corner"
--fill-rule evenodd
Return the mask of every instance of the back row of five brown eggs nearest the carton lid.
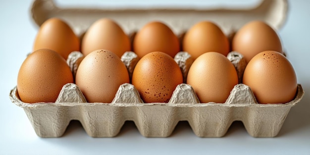
M 174 57 L 182 49 L 195 59 L 205 52 L 219 52 L 226 56 L 230 51 L 238 51 L 247 62 L 258 52 L 282 52 L 276 32 L 262 21 L 252 21 L 243 26 L 230 46 L 225 34 L 210 21 L 193 25 L 185 33 L 182 44 L 167 25 L 158 21 L 149 22 L 137 32 L 131 44 L 121 27 L 108 18 L 94 22 L 81 43 L 64 21 L 58 18 L 48 19 L 41 25 L 34 42 L 34 51 L 44 48 L 58 52 L 65 59 L 72 51 L 81 51 L 87 55 L 98 49 L 112 51 L 119 57 L 126 51 L 133 51 L 140 58 L 154 51 L 165 52 Z

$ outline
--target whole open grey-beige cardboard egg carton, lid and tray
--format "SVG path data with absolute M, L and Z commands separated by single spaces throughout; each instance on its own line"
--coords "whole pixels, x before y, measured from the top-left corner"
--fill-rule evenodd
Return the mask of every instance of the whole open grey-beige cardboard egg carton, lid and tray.
M 139 30 L 149 21 L 166 23 L 175 34 L 182 36 L 195 23 L 212 20 L 228 36 L 248 21 L 263 20 L 278 29 L 284 23 L 287 12 L 286 0 L 263 0 L 253 8 L 59 8 L 52 0 L 35 0 L 32 7 L 34 21 L 40 26 L 51 17 L 64 19 L 76 34 L 82 36 L 96 20 L 107 17 L 115 20 L 127 34 Z M 175 18 L 179 16 L 180 18 Z M 130 18 L 129 18 L 130 17 Z M 128 20 L 130 19 L 130 20 Z M 73 75 L 83 58 L 80 52 L 72 52 L 67 60 Z M 245 61 L 238 52 L 230 52 L 227 58 L 234 64 L 239 81 Z M 122 56 L 132 75 L 138 61 L 133 52 Z M 187 52 L 175 57 L 183 77 L 193 62 Z M 89 136 L 116 136 L 124 122 L 134 121 L 145 137 L 167 137 L 179 121 L 188 121 L 199 137 L 222 137 L 233 121 L 242 121 L 253 137 L 274 137 L 281 129 L 290 110 L 303 97 L 300 84 L 293 101 L 285 104 L 258 104 L 251 89 L 238 84 L 225 103 L 200 103 L 193 88 L 188 84 L 177 86 L 169 103 L 143 103 L 138 91 L 131 84 L 119 87 L 112 103 L 87 103 L 75 84 L 63 86 L 55 103 L 23 103 L 16 87 L 9 97 L 12 103 L 23 107 L 34 130 L 40 137 L 60 137 L 71 120 L 79 120 Z

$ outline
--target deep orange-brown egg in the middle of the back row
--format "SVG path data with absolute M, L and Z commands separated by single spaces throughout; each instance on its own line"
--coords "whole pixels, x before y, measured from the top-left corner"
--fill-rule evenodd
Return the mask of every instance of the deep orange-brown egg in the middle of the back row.
M 160 51 L 171 57 L 180 52 L 180 44 L 177 36 L 164 23 L 154 21 L 146 24 L 135 36 L 133 51 L 138 57 Z

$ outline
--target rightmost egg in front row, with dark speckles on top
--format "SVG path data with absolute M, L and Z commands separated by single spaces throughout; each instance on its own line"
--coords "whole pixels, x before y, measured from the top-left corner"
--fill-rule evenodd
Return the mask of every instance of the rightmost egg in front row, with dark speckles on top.
M 295 98 L 297 78 L 293 66 L 281 53 L 260 52 L 248 63 L 243 83 L 258 103 L 288 103 Z

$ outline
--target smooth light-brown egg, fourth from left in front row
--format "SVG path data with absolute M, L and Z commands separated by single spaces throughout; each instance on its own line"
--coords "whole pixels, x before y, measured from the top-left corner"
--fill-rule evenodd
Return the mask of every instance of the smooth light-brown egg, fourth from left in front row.
M 218 52 L 206 52 L 192 64 L 187 75 L 201 103 L 225 103 L 231 90 L 238 84 L 234 65 Z

